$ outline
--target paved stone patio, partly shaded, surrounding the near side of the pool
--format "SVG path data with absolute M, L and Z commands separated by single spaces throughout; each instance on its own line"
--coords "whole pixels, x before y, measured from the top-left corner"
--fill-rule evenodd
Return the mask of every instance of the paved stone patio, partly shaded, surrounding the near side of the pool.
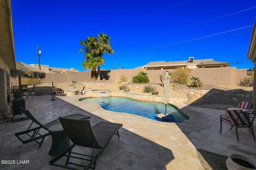
M 61 96 L 50 101 L 50 95 L 36 96 L 35 99 L 26 99 L 26 109 L 43 124 L 75 113 L 90 116 L 92 125 L 100 121 L 122 123 L 120 139 L 114 135 L 97 161 L 98 170 L 203 170 L 196 148 L 226 156 L 238 153 L 256 160 L 256 141 L 247 129 L 238 129 L 239 142 L 236 133 L 229 131 L 227 123 L 223 123 L 222 133 L 219 133 L 220 115 L 224 113 L 222 110 L 175 104 L 190 119 L 183 123 L 166 123 L 128 113 L 106 111 L 97 104 L 78 101 L 84 97 Z M 27 129 L 30 122 L 24 120 L 0 123 L 1 160 L 30 162 L 1 164 L 1 169 L 62 169 L 49 165 L 49 161 L 54 158 L 48 154 L 52 143 L 50 136 L 44 139 L 40 148 L 35 142 L 23 145 L 15 137 L 14 134 Z

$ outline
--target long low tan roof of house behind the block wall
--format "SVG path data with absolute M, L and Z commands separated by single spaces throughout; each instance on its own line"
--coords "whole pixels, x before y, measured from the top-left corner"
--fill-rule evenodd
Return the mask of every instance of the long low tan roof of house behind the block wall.
M 187 61 L 152 61 L 142 67 L 153 67 L 153 66 L 180 66 L 180 65 L 194 65 L 194 64 L 200 64 L 200 63 L 206 63 L 208 61 L 213 61 L 213 59 L 202 59 L 202 60 L 194 60 L 193 62 Z

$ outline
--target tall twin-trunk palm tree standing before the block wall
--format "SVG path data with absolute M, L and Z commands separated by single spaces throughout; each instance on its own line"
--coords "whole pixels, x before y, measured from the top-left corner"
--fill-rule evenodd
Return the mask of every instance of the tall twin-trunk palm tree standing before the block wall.
M 108 53 L 109 55 L 114 54 L 114 51 L 110 44 L 112 42 L 109 41 L 110 36 L 100 33 L 98 34 L 98 38 L 96 37 L 87 37 L 87 40 L 80 40 L 81 45 L 85 48 L 79 50 L 85 51 L 85 61 L 82 66 L 84 68 L 89 68 L 92 70 L 92 78 L 94 79 L 96 74 L 96 68 L 98 67 L 98 75 L 97 80 L 100 80 L 100 66 L 104 64 L 105 60 L 102 58 L 104 53 Z

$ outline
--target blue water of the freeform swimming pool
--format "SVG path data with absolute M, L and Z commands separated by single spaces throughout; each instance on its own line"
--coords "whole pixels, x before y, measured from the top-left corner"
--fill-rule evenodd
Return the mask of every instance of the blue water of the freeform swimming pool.
M 165 105 L 160 103 L 140 102 L 129 98 L 107 97 L 107 98 L 84 98 L 82 102 L 92 102 L 99 104 L 103 109 L 109 111 L 130 113 L 147 117 L 149 119 L 162 121 L 157 117 L 159 113 L 165 113 Z M 168 122 L 183 122 L 189 117 L 184 114 L 178 107 L 168 104 L 166 113 L 172 114 L 174 120 Z

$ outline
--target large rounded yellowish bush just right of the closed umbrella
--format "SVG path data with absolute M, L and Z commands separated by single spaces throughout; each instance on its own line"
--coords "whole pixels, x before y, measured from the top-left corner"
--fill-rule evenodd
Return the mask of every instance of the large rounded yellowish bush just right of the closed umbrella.
M 178 68 L 172 73 L 172 82 L 178 84 L 188 84 L 189 76 L 190 76 L 191 69 L 190 68 Z

